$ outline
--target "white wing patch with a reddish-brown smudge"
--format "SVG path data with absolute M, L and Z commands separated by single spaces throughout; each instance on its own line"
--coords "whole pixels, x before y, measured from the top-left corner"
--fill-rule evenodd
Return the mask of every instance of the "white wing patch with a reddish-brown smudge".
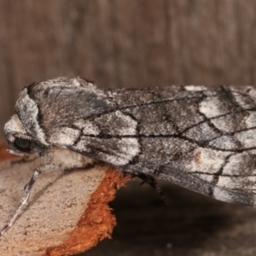
M 216 173 L 224 165 L 225 158 L 230 152 L 213 150 L 210 148 L 197 148 L 191 162 L 191 172 Z

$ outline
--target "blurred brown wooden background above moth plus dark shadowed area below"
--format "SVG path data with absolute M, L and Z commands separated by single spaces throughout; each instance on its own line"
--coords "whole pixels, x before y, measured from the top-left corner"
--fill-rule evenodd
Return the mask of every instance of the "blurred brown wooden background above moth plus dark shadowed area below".
M 22 87 L 56 76 L 101 87 L 255 84 L 255 28 L 253 0 L 1 0 L 0 126 Z M 113 240 L 84 255 L 256 254 L 253 209 L 166 187 L 171 208 L 150 189 L 121 190 Z

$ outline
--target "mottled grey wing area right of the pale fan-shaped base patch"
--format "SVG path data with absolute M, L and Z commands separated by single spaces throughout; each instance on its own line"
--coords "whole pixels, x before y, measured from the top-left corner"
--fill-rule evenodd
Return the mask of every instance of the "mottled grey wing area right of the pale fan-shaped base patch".
M 164 178 L 218 200 L 254 206 L 255 89 L 184 89 L 187 96 L 177 93 L 176 100 L 124 110 L 138 122 L 141 145 L 127 170 Z

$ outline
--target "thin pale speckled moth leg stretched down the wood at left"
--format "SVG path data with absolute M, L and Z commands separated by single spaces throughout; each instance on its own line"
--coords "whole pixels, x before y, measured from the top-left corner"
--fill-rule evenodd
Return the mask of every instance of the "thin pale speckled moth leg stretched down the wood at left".
M 3 227 L 3 229 L 0 231 L 0 237 L 3 236 L 3 234 L 7 230 L 9 230 L 9 228 L 15 223 L 15 220 L 18 218 L 22 208 L 26 205 L 26 203 L 29 199 L 33 184 L 36 182 L 39 174 L 41 174 L 42 172 L 44 172 L 44 170 L 47 170 L 49 168 L 49 167 L 48 168 L 47 167 L 48 166 L 40 166 L 40 167 L 38 167 L 37 169 L 34 170 L 34 173 L 31 177 L 30 181 L 28 183 L 26 183 L 26 186 L 24 187 L 24 192 L 23 192 L 23 195 L 21 197 L 19 206 L 15 210 L 15 214 L 12 216 L 12 218 L 10 218 L 9 223 L 6 224 Z

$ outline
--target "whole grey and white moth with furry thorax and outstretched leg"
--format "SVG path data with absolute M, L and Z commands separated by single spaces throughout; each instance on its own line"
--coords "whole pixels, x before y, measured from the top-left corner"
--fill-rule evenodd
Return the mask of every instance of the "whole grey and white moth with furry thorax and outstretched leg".
M 21 91 L 4 126 L 9 152 L 35 153 L 42 172 L 98 161 L 158 177 L 221 201 L 256 205 L 256 88 L 168 86 L 101 90 L 80 78 L 55 78 Z

